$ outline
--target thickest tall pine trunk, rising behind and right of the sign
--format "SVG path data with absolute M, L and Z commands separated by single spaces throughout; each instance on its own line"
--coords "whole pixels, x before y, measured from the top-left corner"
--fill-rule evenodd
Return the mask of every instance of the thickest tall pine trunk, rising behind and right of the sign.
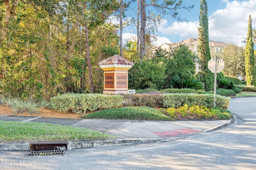
M 140 61 L 145 57 L 145 26 L 146 26 L 146 5 L 145 0 L 140 0 Z

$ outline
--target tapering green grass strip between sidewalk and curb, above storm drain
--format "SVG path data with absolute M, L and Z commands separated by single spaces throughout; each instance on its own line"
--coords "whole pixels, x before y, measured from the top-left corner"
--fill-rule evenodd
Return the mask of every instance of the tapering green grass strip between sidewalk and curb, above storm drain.
M 116 139 L 113 135 L 91 129 L 49 123 L 0 121 L 1 141 L 79 141 Z

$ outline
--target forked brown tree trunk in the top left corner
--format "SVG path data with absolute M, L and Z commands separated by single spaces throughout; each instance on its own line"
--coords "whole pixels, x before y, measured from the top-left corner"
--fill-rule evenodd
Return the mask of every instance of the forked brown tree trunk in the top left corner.
M 8 25 L 11 18 L 14 17 L 15 10 L 17 7 L 17 0 L 12 1 L 12 6 L 9 4 L 9 0 L 4 0 L 6 12 L 5 12 L 5 18 L 4 18 L 4 25 L 1 30 L 1 40 L 0 40 L 0 46 L 2 46 L 2 43 L 4 39 L 6 38 L 6 35 L 8 33 Z

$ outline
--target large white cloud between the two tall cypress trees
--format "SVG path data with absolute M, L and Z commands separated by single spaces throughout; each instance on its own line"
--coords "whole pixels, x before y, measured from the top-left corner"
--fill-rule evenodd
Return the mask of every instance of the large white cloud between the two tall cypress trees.
M 226 8 L 216 10 L 209 17 L 209 39 L 244 46 L 241 41 L 247 36 L 250 14 L 252 26 L 255 25 L 255 8 L 256 0 L 227 2 Z

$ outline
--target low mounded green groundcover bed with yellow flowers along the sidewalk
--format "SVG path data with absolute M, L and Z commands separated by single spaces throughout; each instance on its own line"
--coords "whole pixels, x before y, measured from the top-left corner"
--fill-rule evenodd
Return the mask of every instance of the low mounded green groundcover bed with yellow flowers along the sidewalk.
M 182 109 L 182 111 L 180 111 Z M 151 107 L 121 107 L 97 111 L 82 116 L 84 119 L 130 119 L 130 120 L 153 120 L 153 121 L 176 121 L 176 120 L 209 120 L 230 119 L 230 111 L 223 109 L 194 108 L 193 113 L 183 107 L 174 108 L 174 114 L 168 109 L 154 109 Z M 184 114 L 183 114 L 184 113 Z M 178 119 L 177 119 L 178 118 Z

